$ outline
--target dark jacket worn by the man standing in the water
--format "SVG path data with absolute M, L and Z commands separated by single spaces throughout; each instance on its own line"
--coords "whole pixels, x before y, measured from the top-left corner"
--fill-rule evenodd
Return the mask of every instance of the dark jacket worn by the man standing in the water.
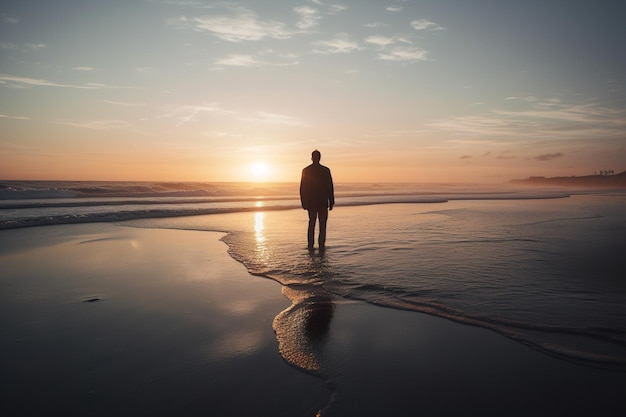
M 335 205 L 335 191 L 330 169 L 313 163 L 302 170 L 300 202 L 307 210 L 332 208 Z

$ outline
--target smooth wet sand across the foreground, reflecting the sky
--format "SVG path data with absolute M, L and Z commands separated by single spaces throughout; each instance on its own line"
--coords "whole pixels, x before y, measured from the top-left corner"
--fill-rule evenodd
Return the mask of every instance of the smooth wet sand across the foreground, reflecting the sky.
M 104 223 L 0 233 L 4 416 L 626 411 L 622 371 L 281 286 L 233 260 L 223 233 Z

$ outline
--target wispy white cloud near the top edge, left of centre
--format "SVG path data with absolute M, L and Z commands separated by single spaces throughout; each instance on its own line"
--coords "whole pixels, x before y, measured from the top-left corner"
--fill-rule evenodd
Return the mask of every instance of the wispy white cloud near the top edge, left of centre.
M 178 18 L 175 23 L 197 32 L 211 32 L 228 42 L 288 39 L 293 31 L 282 22 L 260 19 L 247 9 L 239 8 L 234 15 Z

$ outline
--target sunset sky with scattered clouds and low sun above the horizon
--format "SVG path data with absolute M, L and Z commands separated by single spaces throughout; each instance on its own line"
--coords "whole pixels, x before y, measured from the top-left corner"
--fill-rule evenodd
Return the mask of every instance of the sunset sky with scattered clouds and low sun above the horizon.
M 0 179 L 626 170 L 626 2 L 3 0 Z

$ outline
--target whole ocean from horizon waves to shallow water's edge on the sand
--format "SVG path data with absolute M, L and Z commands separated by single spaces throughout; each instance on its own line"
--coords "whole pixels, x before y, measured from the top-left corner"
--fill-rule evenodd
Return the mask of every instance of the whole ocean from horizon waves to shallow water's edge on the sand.
M 283 284 L 294 305 L 362 300 L 626 369 L 626 193 L 338 184 L 336 200 L 321 253 L 306 248 L 294 183 L 4 181 L 0 229 L 115 222 L 220 231 L 230 255 L 254 279 Z M 274 322 L 279 342 L 288 323 Z

